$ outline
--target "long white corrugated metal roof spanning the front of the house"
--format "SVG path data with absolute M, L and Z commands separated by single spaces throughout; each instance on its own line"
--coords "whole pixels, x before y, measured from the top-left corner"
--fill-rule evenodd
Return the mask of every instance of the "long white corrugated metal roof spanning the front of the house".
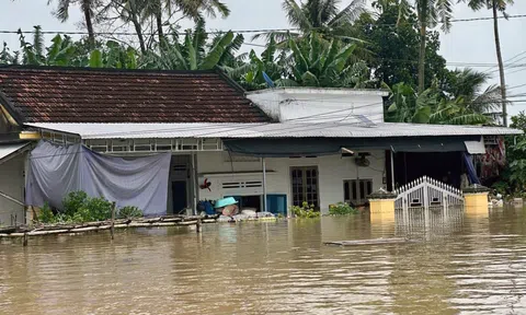
M 146 138 L 386 138 L 430 136 L 521 135 L 504 127 L 380 122 L 373 127 L 345 122 L 276 124 L 26 124 L 79 135 L 82 139 Z

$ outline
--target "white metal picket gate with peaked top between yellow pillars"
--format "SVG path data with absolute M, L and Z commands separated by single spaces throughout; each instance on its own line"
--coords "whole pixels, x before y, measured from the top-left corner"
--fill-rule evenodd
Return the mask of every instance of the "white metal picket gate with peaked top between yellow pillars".
M 427 176 L 421 177 L 395 190 L 398 195 L 395 209 L 443 208 L 462 206 L 464 196 L 460 189 L 448 186 Z

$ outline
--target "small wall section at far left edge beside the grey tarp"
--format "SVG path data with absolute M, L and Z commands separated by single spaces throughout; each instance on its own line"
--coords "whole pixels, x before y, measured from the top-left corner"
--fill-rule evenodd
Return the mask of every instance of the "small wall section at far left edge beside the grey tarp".
M 24 161 L 21 154 L 0 164 L 0 191 L 8 196 L 24 200 Z M 24 207 L 0 196 L 0 224 L 11 225 L 11 214 L 16 214 L 18 224 L 24 222 Z

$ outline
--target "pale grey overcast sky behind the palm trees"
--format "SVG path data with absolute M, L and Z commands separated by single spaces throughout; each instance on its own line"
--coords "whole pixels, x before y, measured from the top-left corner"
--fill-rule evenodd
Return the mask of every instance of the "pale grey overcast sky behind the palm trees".
M 57 0 L 55 0 L 56 2 Z M 70 20 L 60 23 L 52 14 L 53 7 L 47 7 L 47 0 L 0 0 L 0 31 L 31 31 L 33 25 L 41 25 L 44 31 L 79 31 L 82 15 L 79 9 L 70 10 Z M 287 27 L 287 21 L 282 11 L 282 0 L 224 0 L 231 10 L 228 19 L 207 20 L 207 27 L 214 30 L 259 30 Z M 343 1 L 348 2 L 348 1 Z M 249 4 L 250 3 L 250 4 Z M 526 1 L 515 1 L 507 11 L 508 14 L 526 14 Z M 455 19 L 490 16 L 490 11 L 472 12 L 464 4 L 455 5 Z M 81 30 L 83 31 L 83 30 Z M 501 46 L 503 58 L 507 60 L 526 51 L 526 19 L 500 20 Z M 250 36 L 245 36 L 248 38 Z M 453 65 L 458 62 L 496 63 L 492 21 L 454 23 L 451 32 L 442 34 L 441 52 Z M 7 42 L 12 49 L 19 48 L 16 34 L 1 34 L 0 42 Z M 47 43 L 48 44 L 48 43 Z M 244 47 L 250 49 L 252 47 Z M 524 59 L 522 59 L 524 58 Z M 526 54 L 517 58 L 518 63 L 526 63 Z M 522 60 L 521 60 L 522 59 Z M 451 68 L 454 68 L 451 66 Z M 491 71 L 495 68 L 476 68 Z M 499 73 L 494 74 L 494 83 L 499 82 Z M 526 67 L 506 69 L 506 83 L 511 89 L 508 95 L 526 93 Z M 526 100 L 512 97 L 512 100 Z M 515 103 L 510 114 L 526 109 L 526 102 Z

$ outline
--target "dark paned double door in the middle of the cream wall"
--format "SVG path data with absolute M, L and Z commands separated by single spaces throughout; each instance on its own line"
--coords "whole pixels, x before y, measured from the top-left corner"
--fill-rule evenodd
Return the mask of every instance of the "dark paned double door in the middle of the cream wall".
M 320 208 L 318 191 L 318 166 L 304 166 L 290 168 L 290 183 L 293 186 L 293 205 L 301 206 L 304 202 Z

